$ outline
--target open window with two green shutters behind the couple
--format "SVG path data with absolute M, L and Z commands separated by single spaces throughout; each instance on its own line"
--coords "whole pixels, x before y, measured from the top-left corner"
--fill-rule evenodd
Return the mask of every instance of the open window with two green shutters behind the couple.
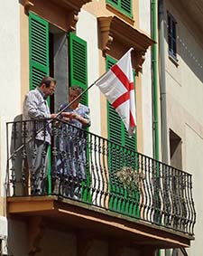
M 29 43 L 30 90 L 44 76 L 54 77 L 60 86 L 51 96 L 51 112 L 58 111 L 61 102 L 67 100 L 67 84 L 77 84 L 84 90 L 88 86 L 87 43 L 74 33 L 69 33 L 67 39 L 66 33 L 32 12 L 29 13 Z M 88 104 L 88 93 L 81 101 Z

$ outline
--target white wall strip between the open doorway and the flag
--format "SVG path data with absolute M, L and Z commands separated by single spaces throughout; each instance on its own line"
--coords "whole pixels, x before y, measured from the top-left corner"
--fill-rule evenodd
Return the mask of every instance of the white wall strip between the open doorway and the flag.
M 77 35 L 88 43 L 88 86 L 97 80 L 99 75 L 97 17 L 82 10 L 78 15 Z M 100 127 L 100 92 L 96 85 L 88 91 L 88 106 L 90 109 L 90 130 L 101 134 Z

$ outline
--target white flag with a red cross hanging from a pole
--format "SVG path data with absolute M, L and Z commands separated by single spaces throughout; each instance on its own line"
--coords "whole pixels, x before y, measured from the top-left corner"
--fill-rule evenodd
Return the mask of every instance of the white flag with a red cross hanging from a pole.
M 115 65 L 96 82 L 106 99 L 125 123 L 128 134 L 134 134 L 136 126 L 134 100 L 134 74 L 131 48 Z

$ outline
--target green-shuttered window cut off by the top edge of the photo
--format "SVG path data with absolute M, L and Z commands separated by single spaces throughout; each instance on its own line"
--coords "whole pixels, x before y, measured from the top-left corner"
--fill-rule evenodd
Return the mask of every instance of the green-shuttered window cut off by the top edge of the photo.
M 132 0 L 106 0 L 106 3 L 114 6 L 121 13 L 133 18 Z

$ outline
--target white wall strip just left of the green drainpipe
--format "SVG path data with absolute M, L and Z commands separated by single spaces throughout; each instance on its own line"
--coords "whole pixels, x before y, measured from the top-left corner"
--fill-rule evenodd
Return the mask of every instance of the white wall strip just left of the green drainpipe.
M 139 1 L 139 27 L 151 36 L 151 1 Z M 152 72 L 151 48 L 145 54 L 142 77 L 143 154 L 152 156 Z M 136 109 L 139 111 L 139 109 Z

